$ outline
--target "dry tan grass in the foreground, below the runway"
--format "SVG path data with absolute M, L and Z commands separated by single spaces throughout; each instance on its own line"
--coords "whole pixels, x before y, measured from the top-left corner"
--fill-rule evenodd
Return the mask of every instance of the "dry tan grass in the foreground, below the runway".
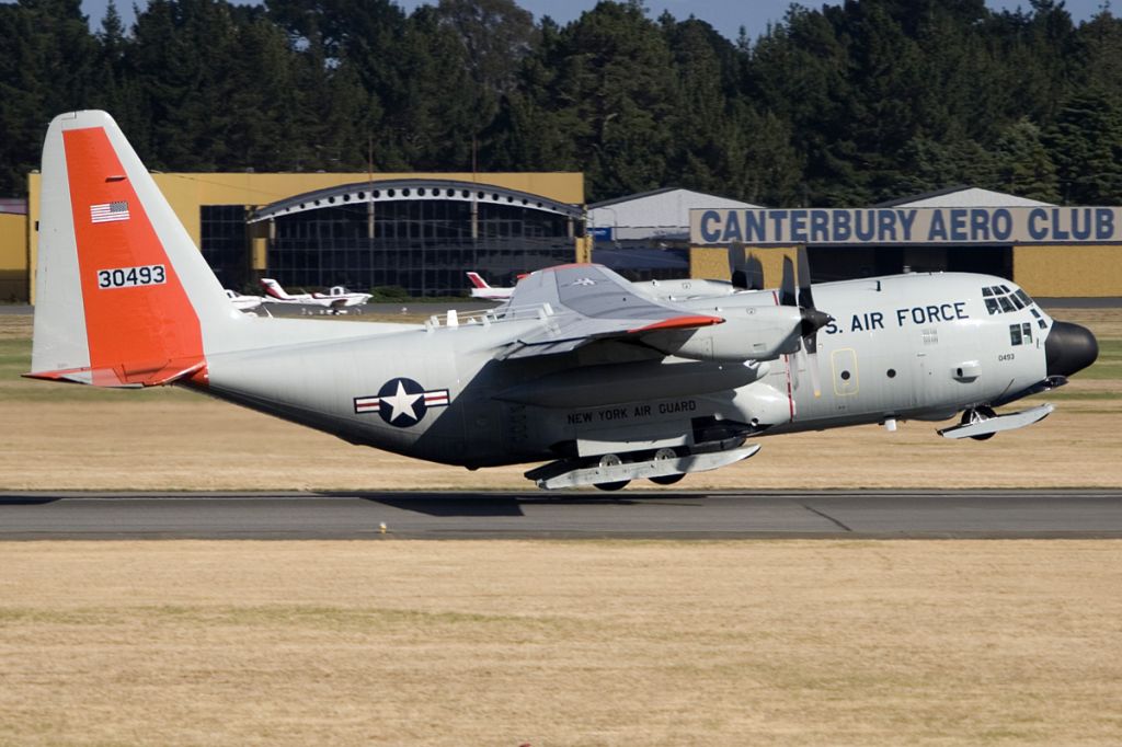
M 6 745 L 1118 745 L 1122 552 L 0 545 Z

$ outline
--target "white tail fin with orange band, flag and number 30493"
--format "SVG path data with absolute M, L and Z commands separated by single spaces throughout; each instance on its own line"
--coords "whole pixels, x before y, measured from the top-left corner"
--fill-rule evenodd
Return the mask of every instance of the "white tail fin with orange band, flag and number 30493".
M 31 376 L 166 384 L 241 320 L 113 119 L 61 114 L 43 147 Z

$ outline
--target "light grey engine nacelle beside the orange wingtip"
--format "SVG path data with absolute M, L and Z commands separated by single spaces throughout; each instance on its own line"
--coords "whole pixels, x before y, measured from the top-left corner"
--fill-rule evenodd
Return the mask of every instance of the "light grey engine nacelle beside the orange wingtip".
M 669 356 L 717 362 L 775 360 L 797 352 L 803 313 L 797 306 L 721 310 L 724 324 L 655 332 L 643 342 Z

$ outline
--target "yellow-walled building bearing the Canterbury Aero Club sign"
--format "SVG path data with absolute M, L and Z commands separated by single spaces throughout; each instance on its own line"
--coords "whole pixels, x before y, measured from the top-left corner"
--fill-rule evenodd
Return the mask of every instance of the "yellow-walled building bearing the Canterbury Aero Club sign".
M 1122 208 L 1057 206 L 953 187 L 862 209 L 695 209 L 690 271 L 728 277 L 724 247 L 761 251 L 769 283 L 806 246 L 816 282 L 969 271 L 1038 297 L 1122 295 Z

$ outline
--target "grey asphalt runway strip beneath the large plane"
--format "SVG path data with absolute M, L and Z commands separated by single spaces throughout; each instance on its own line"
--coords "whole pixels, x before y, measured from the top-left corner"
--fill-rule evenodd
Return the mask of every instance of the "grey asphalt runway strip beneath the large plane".
M 0 494 L 8 541 L 551 537 L 1122 538 L 1122 490 Z

